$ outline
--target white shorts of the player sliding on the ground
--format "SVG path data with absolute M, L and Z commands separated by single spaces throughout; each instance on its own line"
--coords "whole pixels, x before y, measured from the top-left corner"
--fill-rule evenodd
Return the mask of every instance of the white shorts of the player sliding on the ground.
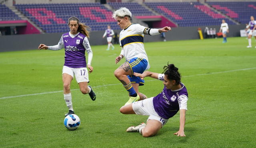
M 149 115 L 148 120 L 158 120 L 162 127 L 168 119 L 162 118 L 154 109 L 153 97 L 132 103 L 132 109 L 136 114 Z

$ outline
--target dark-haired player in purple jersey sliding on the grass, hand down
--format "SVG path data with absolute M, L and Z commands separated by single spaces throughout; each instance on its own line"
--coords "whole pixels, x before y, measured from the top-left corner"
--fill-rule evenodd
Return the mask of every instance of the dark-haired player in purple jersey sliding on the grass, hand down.
M 135 76 L 144 79 L 152 77 L 164 81 L 164 89 L 155 97 L 134 102 L 121 107 L 123 114 L 149 115 L 147 123 L 127 128 L 127 132 L 140 132 L 143 137 L 154 136 L 166 124 L 169 118 L 180 110 L 180 128 L 174 133 L 177 136 L 184 134 L 185 117 L 187 110 L 188 92 L 183 83 L 180 82 L 180 73 L 173 64 L 164 66 L 164 74 L 144 71 L 134 73 Z

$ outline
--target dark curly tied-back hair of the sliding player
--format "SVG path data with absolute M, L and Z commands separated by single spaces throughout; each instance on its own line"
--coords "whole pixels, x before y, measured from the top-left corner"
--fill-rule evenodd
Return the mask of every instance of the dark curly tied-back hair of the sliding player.
M 167 79 L 169 80 L 175 80 L 176 85 L 180 83 L 180 73 L 178 71 L 179 69 L 174 66 L 174 64 L 167 64 L 167 66 L 164 66 L 164 74 L 167 75 Z

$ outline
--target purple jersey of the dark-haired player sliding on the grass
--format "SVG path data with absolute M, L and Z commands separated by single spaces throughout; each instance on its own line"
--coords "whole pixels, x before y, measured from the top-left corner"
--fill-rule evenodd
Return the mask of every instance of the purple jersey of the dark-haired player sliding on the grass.
M 164 86 L 163 91 L 153 98 L 153 105 L 155 111 L 162 118 L 168 119 L 174 116 L 179 110 L 179 97 L 181 95 L 185 95 L 188 97 L 188 92 L 183 83 L 180 83 L 182 86 L 180 89 L 176 91 L 171 91 L 170 89 L 166 89 Z

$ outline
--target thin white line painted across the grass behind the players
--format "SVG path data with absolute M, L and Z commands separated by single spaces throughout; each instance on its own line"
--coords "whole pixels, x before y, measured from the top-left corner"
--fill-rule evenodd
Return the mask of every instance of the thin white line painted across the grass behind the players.
M 229 70 L 229 71 L 220 71 L 220 72 L 213 72 L 213 73 L 203 73 L 203 74 L 197 74 L 197 75 L 187 75 L 187 76 L 182 76 L 182 77 L 194 77 L 194 76 L 200 76 L 200 75 L 212 75 L 212 74 L 217 74 L 217 73 L 229 73 L 229 72 L 233 72 L 233 71 L 242 71 L 242 70 L 251 70 L 251 69 L 256 69 L 256 67 L 253 68 L 245 68 L 245 69 L 236 69 L 236 70 Z M 147 81 L 155 81 L 154 80 L 147 80 Z M 107 86 L 113 86 L 113 85 L 120 85 L 120 83 L 116 83 L 116 84 L 107 84 L 107 85 L 98 85 L 95 86 L 97 87 L 107 87 Z M 95 88 L 94 87 L 94 88 Z M 70 91 L 76 91 L 79 89 L 71 89 Z M 34 94 L 27 94 L 27 95 L 19 95 L 19 96 L 9 96 L 9 97 L 2 97 L 0 99 L 9 99 L 9 98 L 17 98 L 17 97 L 26 97 L 26 96 L 35 96 L 35 95 L 44 95 L 44 94 L 49 94 L 49 93 L 60 93 L 63 91 L 50 91 L 50 92 L 45 92 L 45 93 L 34 93 Z

